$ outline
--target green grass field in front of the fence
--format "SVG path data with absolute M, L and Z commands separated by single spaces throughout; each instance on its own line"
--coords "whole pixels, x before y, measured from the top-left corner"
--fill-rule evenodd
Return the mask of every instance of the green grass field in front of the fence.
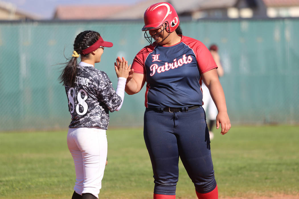
M 70 199 L 75 172 L 65 131 L 0 133 L 0 198 Z M 214 132 L 219 197 L 299 194 L 299 127 L 233 127 Z M 109 129 L 100 199 L 152 198 L 152 168 L 142 129 Z M 181 162 L 177 198 L 196 198 Z

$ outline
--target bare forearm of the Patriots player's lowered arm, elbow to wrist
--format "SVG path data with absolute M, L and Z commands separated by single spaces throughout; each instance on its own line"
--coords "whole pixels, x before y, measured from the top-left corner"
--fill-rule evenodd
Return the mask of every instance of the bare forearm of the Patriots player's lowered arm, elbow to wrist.
M 211 81 L 208 88 L 210 90 L 211 97 L 213 98 L 218 112 L 227 112 L 225 95 L 219 80 Z

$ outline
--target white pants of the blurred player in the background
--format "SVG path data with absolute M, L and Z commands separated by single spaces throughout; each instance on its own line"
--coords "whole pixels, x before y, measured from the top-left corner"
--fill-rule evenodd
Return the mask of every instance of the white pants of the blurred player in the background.
M 202 105 L 202 107 L 206 112 L 207 119 L 216 120 L 218 110 L 210 95 L 208 87 L 204 83 L 202 83 L 202 101 L 204 102 L 204 105 Z

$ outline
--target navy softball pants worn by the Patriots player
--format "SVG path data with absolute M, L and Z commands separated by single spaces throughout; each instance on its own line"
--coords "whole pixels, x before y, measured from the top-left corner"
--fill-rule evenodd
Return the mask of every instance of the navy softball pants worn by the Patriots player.
M 154 193 L 175 195 L 179 157 L 199 193 L 216 187 L 205 111 L 200 106 L 187 112 L 146 109 L 144 141 L 154 173 Z

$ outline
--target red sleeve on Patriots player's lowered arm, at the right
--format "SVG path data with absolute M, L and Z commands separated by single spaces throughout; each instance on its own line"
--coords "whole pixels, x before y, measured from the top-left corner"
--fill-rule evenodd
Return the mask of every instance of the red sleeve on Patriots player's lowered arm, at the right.
M 212 54 L 205 44 L 190 37 L 184 37 L 184 42 L 195 53 L 197 66 L 200 73 L 205 73 L 214 68 L 218 68 Z

